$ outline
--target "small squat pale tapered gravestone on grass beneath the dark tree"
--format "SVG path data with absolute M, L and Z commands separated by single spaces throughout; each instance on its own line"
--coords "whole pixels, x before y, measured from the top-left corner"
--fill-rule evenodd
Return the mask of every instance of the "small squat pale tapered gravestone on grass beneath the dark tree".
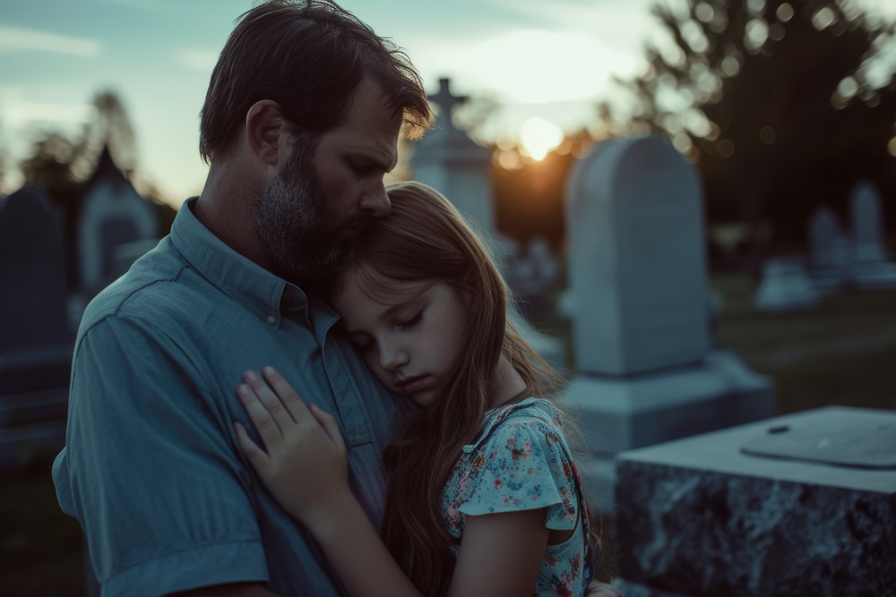
M 753 306 L 758 311 L 806 311 L 818 306 L 815 290 L 799 257 L 773 257 L 762 266 Z

